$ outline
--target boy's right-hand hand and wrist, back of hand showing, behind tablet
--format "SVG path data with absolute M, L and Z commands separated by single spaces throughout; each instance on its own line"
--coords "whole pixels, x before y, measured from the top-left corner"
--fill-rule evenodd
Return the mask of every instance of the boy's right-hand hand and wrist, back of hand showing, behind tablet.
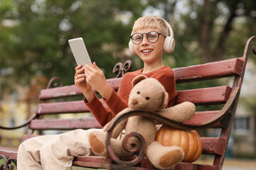
M 96 63 L 93 62 L 92 67 L 85 64 L 85 77 L 86 81 L 92 89 L 98 91 L 105 100 L 112 94 L 112 88 L 107 84 L 106 77 L 102 70 L 97 67 Z

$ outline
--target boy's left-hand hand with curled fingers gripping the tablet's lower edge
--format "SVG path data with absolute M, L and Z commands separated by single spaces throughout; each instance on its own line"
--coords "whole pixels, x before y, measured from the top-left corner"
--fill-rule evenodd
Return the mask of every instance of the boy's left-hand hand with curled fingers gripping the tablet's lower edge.
M 82 94 L 91 95 L 93 94 L 92 87 L 90 84 L 85 83 L 85 68 L 82 65 L 75 67 L 75 86 L 82 91 Z M 87 98 L 85 95 L 85 97 Z

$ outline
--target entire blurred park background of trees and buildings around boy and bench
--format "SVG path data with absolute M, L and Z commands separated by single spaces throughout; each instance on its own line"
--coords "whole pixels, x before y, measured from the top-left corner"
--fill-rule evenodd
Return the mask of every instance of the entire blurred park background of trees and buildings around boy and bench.
M 171 68 L 242 57 L 247 39 L 256 35 L 253 0 L 0 0 L 0 125 L 24 123 L 51 77 L 73 84 L 71 38 L 84 39 L 107 78 L 115 77 L 117 62 L 131 60 L 133 70 L 142 68 L 128 42 L 134 21 L 149 14 L 174 29 L 176 48 L 164 54 Z M 256 162 L 255 64 L 250 55 L 227 158 Z M 17 148 L 25 132 L 1 130 L 0 146 Z

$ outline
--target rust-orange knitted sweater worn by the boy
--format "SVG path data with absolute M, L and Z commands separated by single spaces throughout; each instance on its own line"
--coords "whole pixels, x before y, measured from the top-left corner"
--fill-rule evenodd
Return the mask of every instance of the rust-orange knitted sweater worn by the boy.
M 142 74 L 142 71 L 143 69 L 139 69 L 135 72 L 124 74 L 117 93 L 113 90 L 110 98 L 105 101 L 107 106 L 103 104 L 96 95 L 92 98 L 90 103 L 87 103 L 86 99 L 84 100 L 85 104 L 102 127 L 110 122 L 117 113 L 128 107 L 129 94 L 132 91 L 132 79 L 137 77 L 137 75 Z M 173 106 L 177 96 L 173 70 L 170 67 L 165 66 L 144 75 L 146 77 L 157 79 L 164 86 L 169 94 L 168 107 Z

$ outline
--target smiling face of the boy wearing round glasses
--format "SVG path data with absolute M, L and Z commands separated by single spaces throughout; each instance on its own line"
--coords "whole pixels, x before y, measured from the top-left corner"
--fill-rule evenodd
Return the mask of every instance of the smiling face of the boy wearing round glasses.
M 142 59 L 143 62 L 147 64 L 152 64 L 154 62 L 161 62 L 162 55 L 164 52 L 164 39 L 163 35 L 159 35 L 159 40 L 156 42 L 149 42 L 146 38 L 146 34 L 150 31 L 156 31 L 161 33 L 161 30 L 157 28 L 144 28 L 136 30 L 134 33 L 142 33 L 143 39 L 142 42 L 138 45 L 134 44 L 134 49 L 137 52 L 137 55 Z

